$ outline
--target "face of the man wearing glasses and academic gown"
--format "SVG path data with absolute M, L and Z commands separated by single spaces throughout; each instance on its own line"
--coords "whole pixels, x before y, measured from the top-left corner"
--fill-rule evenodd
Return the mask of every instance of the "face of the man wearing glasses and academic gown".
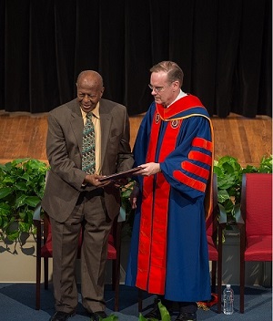
M 178 82 L 170 82 L 167 79 L 167 73 L 164 71 L 151 74 L 149 87 L 152 89 L 151 94 L 154 96 L 156 103 L 165 107 L 177 98 L 180 89 Z

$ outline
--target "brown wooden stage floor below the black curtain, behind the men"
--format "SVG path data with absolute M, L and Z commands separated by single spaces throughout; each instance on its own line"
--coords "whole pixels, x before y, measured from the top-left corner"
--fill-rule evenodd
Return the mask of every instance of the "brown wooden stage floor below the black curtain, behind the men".
M 130 118 L 131 146 L 143 115 Z M 258 116 L 247 119 L 231 114 L 227 119 L 212 118 L 215 135 L 215 159 L 229 155 L 239 163 L 258 166 L 263 156 L 272 154 L 272 119 Z M 7 113 L 0 111 L 0 163 L 16 158 L 46 161 L 47 114 Z

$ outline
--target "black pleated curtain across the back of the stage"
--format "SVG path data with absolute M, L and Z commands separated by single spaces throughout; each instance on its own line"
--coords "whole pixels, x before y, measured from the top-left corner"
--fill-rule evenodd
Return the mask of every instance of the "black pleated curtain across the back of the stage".
M 152 102 L 149 68 L 173 60 L 210 115 L 272 116 L 271 0 L 0 0 L 0 109 L 47 112 L 84 69 L 129 115 Z

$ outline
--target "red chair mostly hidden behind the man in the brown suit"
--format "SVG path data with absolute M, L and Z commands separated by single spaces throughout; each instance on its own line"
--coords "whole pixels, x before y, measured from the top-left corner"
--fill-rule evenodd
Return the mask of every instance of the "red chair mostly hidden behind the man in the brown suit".
M 41 261 L 44 258 L 45 289 L 48 289 L 48 259 L 52 258 L 52 234 L 48 215 L 45 213 L 43 219 L 40 215 L 41 206 L 37 206 L 34 213 L 34 223 L 36 226 L 36 285 L 35 285 L 35 308 L 40 309 L 41 302 Z M 113 223 L 111 233 L 108 238 L 107 260 L 112 260 L 112 289 L 115 290 L 115 311 L 118 311 L 119 299 L 119 277 L 120 277 L 120 246 L 122 222 Z M 80 258 L 79 241 L 77 257 Z

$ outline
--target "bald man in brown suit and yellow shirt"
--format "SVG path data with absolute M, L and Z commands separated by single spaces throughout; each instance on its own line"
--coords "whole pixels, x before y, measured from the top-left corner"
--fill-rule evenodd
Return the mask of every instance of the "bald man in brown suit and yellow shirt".
M 126 171 L 134 163 L 126 108 L 102 98 L 103 79 L 96 71 L 81 72 L 76 87 L 76 99 L 48 114 L 46 151 L 51 170 L 42 207 L 50 216 L 53 235 L 56 314 L 51 321 L 65 321 L 76 312 L 75 267 L 82 226 L 82 302 L 91 320 L 106 317 L 107 238 L 112 221 L 119 213 L 120 192 L 117 184 L 99 179 Z M 83 129 L 87 115 L 92 118 L 95 128 L 96 171 L 91 174 L 82 170 Z

